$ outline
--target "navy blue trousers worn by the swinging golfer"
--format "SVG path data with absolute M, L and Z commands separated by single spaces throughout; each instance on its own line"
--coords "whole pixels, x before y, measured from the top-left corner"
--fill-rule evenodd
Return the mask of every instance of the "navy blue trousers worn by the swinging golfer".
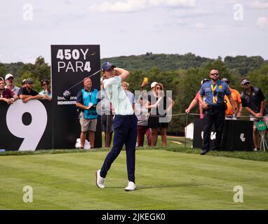
M 100 176 L 106 177 L 112 163 L 118 157 L 123 144 L 126 146 L 126 166 L 128 169 L 128 181 L 135 183 L 135 146 L 137 141 L 137 117 L 119 116 L 114 118 L 114 145 L 107 154 L 105 162 L 100 170 Z

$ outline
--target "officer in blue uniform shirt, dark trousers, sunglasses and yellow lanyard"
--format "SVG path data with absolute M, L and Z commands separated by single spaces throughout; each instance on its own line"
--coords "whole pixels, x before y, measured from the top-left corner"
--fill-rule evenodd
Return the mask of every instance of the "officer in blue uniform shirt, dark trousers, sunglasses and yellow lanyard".
M 220 141 L 222 140 L 222 131 L 225 125 L 225 94 L 232 104 L 234 113 L 236 107 L 227 83 L 219 80 L 220 73 L 217 69 L 210 71 L 210 82 L 206 82 L 201 86 L 199 93 L 199 102 L 201 102 L 204 110 L 203 121 L 203 147 L 201 155 L 205 155 L 210 150 L 210 132 L 213 123 L 215 124 L 216 138 L 213 150 L 220 149 Z M 205 102 L 203 97 L 206 97 Z

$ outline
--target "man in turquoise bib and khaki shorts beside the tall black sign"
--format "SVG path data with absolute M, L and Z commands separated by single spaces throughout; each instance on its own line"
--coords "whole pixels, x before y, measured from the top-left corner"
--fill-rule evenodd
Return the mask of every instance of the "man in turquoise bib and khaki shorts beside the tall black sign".
M 91 148 L 95 144 L 95 132 L 98 121 L 96 105 L 98 104 L 98 90 L 92 89 L 91 78 L 83 79 L 83 90 L 80 90 L 76 96 L 76 106 L 81 110 L 79 121 L 81 125 L 81 148 L 83 149 L 88 132 Z

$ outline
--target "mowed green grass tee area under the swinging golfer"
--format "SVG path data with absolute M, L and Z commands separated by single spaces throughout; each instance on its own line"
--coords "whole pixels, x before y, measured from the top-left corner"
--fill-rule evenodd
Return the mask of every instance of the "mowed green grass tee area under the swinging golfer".
M 137 190 L 125 192 L 126 152 L 95 186 L 107 151 L 0 157 L 0 209 L 268 209 L 268 163 L 163 150 L 136 151 Z M 33 202 L 25 203 L 24 186 Z M 234 186 L 243 187 L 235 203 Z

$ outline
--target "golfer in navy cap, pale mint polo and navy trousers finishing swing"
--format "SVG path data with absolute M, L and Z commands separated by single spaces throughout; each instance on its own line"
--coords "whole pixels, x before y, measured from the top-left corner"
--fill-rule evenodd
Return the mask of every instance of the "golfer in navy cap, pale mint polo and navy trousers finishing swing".
M 135 145 L 137 139 L 137 118 L 121 82 L 130 73 L 125 69 L 116 68 L 110 62 L 101 65 L 104 76 L 104 88 L 114 106 L 114 145 L 105 158 L 102 169 L 96 172 L 96 185 L 105 188 L 105 177 L 112 163 L 117 158 L 123 144 L 126 146 L 126 165 L 128 169 L 128 186 L 126 191 L 135 190 Z

